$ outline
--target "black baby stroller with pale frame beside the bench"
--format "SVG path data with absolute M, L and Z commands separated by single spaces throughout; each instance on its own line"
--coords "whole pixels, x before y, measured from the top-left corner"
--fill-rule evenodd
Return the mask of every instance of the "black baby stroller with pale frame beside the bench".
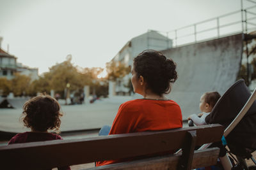
M 237 80 L 221 96 L 210 115 L 205 118 L 207 124 L 221 124 L 225 127 L 224 136 L 229 148 L 227 152 L 236 155 L 236 158 L 232 157 L 233 160 L 236 160 L 236 165 L 232 169 L 248 169 L 245 159 L 252 159 L 256 165 L 256 161 L 252 157 L 252 152 L 256 150 L 255 94 L 256 91 L 251 97 L 252 94 L 246 87 L 244 80 Z M 252 106 L 248 104 L 249 98 Z M 246 112 L 244 109 L 248 111 Z M 242 112 L 246 114 L 244 116 L 239 114 Z M 192 125 L 191 122 L 189 125 Z

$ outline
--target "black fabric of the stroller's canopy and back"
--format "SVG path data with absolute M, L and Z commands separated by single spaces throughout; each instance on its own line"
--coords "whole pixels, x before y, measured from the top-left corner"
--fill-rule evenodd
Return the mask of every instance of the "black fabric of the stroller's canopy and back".
M 205 118 L 207 124 L 221 124 L 225 128 L 236 118 L 251 92 L 244 80 L 234 83 L 218 100 L 210 115 Z M 241 157 L 256 150 L 256 102 L 226 137 L 230 151 Z

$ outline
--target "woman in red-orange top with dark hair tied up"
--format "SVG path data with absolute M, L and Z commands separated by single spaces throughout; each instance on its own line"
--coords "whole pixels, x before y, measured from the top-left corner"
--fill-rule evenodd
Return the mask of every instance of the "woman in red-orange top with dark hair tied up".
M 161 131 L 182 127 L 179 104 L 164 96 L 170 93 L 170 83 L 177 80 L 176 64 L 173 60 L 166 59 L 161 52 L 145 50 L 134 58 L 131 73 L 134 92 L 141 94 L 143 99 L 127 101 L 120 105 L 109 134 Z M 109 127 L 104 126 L 104 128 Z M 101 129 L 101 132 L 104 132 L 104 129 Z M 170 153 L 172 151 L 163 154 Z M 96 166 L 125 160 L 99 161 L 96 162 Z

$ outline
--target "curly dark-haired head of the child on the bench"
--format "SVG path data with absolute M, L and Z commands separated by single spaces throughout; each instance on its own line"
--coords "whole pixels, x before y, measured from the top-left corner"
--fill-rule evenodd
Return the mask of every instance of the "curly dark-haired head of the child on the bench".
M 60 129 L 60 104 L 51 96 L 36 96 L 23 106 L 22 119 L 32 131 L 46 132 Z

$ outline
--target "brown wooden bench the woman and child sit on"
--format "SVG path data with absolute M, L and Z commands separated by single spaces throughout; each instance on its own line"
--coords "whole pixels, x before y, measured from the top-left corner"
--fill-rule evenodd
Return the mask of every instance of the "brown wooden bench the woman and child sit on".
M 51 169 L 97 160 L 124 159 L 182 148 L 182 153 L 121 162 L 92 169 L 194 169 L 216 164 L 219 148 L 195 146 L 220 141 L 219 124 L 0 146 L 1 169 Z

